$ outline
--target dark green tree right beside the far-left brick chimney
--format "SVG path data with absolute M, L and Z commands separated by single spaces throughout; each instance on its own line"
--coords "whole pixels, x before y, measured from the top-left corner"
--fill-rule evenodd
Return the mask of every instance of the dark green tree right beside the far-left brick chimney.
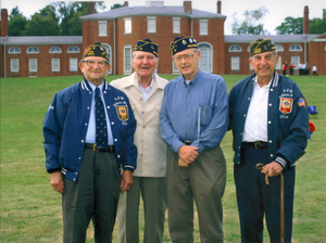
M 20 12 L 18 7 L 12 9 L 8 22 L 9 36 L 22 36 L 27 24 L 26 17 Z

